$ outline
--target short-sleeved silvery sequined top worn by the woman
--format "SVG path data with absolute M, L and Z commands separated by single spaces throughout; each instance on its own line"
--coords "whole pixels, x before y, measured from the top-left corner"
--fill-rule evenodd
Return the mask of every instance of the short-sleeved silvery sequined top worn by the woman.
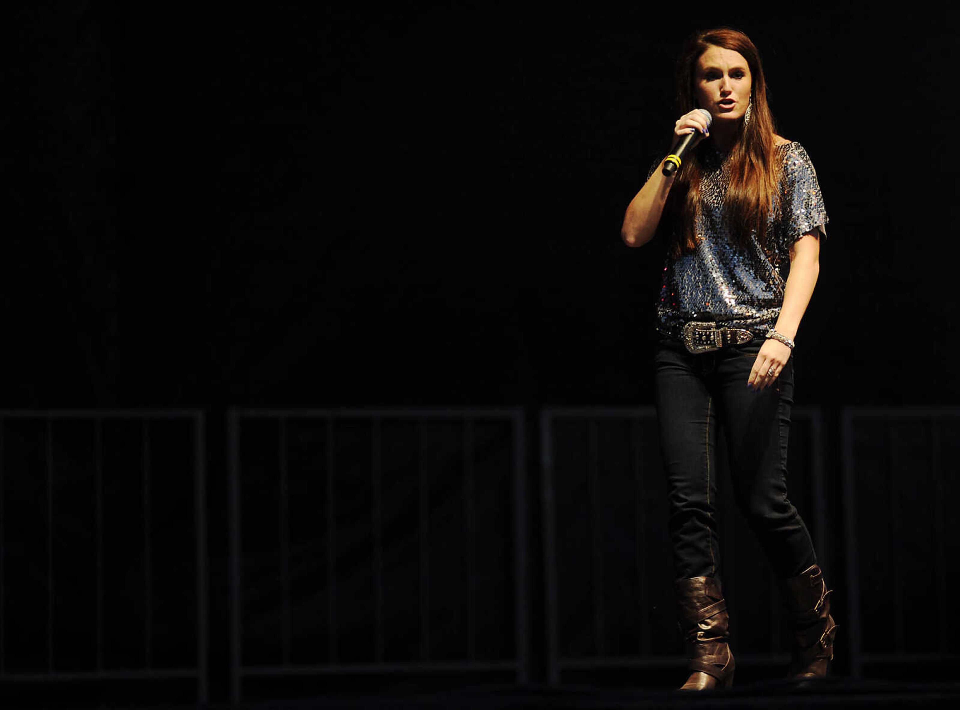
M 663 267 L 657 309 L 661 332 L 676 336 L 685 322 L 705 312 L 726 326 L 757 333 L 776 323 L 790 269 L 790 248 L 811 229 L 826 236 L 828 217 L 816 171 L 803 146 L 784 143 L 775 150 L 783 160 L 783 171 L 779 201 L 767 224 L 766 251 L 757 243 L 756 233 L 746 249 L 732 239 L 724 202 L 730 163 L 715 150 L 701 153 L 704 178 L 695 225 L 697 247 L 678 259 L 668 257 Z

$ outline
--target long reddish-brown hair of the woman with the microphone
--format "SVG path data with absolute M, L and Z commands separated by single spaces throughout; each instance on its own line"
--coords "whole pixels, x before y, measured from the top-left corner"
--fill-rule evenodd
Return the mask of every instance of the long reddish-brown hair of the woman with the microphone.
M 677 99 L 681 113 L 697 108 L 693 93 L 697 61 L 710 47 L 721 47 L 739 52 L 753 79 L 751 99 L 753 107 L 749 123 L 740 119 L 739 139 L 734 143 L 731 160 L 730 186 L 727 188 L 727 215 L 734 239 L 741 246 L 749 241 L 756 231 L 760 245 L 766 243 L 767 219 L 776 195 L 780 177 L 779 161 L 774 159 L 774 135 L 776 127 L 770 105 L 767 103 L 767 82 L 763 76 L 760 54 L 750 37 L 738 30 L 722 27 L 697 33 L 686 40 L 684 51 L 677 65 Z M 700 181 L 704 169 L 700 154 L 704 143 L 694 151 L 677 177 L 671 191 L 672 208 L 679 210 L 680 233 L 672 238 L 670 247 L 675 257 L 689 253 L 697 246 L 696 215 L 700 201 Z M 680 188 L 680 189 L 678 189 Z

